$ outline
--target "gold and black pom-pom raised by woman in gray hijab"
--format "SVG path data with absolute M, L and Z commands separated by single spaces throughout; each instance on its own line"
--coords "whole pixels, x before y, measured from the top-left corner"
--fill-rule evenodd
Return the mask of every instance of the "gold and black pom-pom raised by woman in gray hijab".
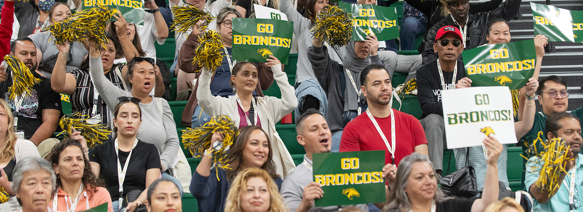
M 322 13 L 316 15 L 312 38 L 326 42 L 332 48 L 345 46 L 350 42 L 354 18 L 338 6 L 326 5 Z

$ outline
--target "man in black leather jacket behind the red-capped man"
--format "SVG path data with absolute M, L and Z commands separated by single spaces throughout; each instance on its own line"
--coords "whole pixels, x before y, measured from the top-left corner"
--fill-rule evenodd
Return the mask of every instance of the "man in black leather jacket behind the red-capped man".
M 463 46 L 467 50 L 476 48 L 482 44 L 487 44 L 486 35 L 488 34 L 488 21 L 501 18 L 510 21 L 518 14 L 522 0 L 506 0 L 500 7 L 490 12 L 481 12 L 470 15 L 468 0 L 444 0 L 441 1 L 444 14 L 450 14 L 449 17 L 437 22 L 427 31 L 425 38 L 425 50 L 423 51 L 423 64 L 438 58 L 437 52 L 434 51 L 433 44 L 437 31 L 444 26 L 455 26 L 461 31 Z

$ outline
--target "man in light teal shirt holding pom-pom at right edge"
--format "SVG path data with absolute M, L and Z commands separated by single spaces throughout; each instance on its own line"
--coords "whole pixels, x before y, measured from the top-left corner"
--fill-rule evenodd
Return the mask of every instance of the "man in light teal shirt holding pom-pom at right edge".
M 581 157 L 581 120 L 571 113 L 560 112 L 547 118 L 545 123 L 546 139 L 563 138 L 569 146 L 567 157 L 571 160 L 563 161 L 566 172 L 561 171 L 557 184 L 559 189 L 555 193 L 543 191 L 536 185 L 539 179 L 540 166 L 538 157 L 531 157 L 526 165 L 526 181 L 529 193 L 535 199 L 534 211 L 583 211 L 583 161 Z M 543 138 L 544 139 L 544 138 Z M 581 156 L 581 157 L 580 157 Z M 544 163 L 544 161 L 543 161 Z M 550 182 L 550 181 L 547 181 Z M 554 188 L 555 185 L 545 185 Z

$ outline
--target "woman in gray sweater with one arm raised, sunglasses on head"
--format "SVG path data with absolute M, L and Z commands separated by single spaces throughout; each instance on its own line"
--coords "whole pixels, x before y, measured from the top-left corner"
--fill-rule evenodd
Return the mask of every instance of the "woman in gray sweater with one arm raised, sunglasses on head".
M 162 165 L 162 178 L 173 180 L 179 188 L 182 186 L 174 177 L 164 171 L 172 168 L 177 153 L 180 151 L 178 144 L 178 134 L 176 124 L 170 105 L 165 99 L 156 98 L 150 95 L 154 88 L 154 82 L 161 80 L 160 71 L 154 70 L 153 59 L 136 57 L 127 64 L 128 87 L 131 91 L 124 91 L 115 86 L 103 75 L 103 64 L 101 63 L 101 52 L 89 41 L 89 73 L 93 84 L 99 92 L 101 98 L 107 105 L 115 105 L 120 96 L 130 96 L 141 100 L 139 104 L 142 109 L 142 130 L 138 129 L 138 139 L 146 143 L 152 143 L 160 153 L 160 163 Z M 157 72 L 157 73 L 156 73 Z M 110 107 L 110 110 L 113 108 Z M 113 111 L 111 111 L 113 113 Z M 182 156 L 184 157 L 184 156 Z M 188 175 L 190 175 L 188 173 Z M 189 181 L 189 179 L 188 179 Z

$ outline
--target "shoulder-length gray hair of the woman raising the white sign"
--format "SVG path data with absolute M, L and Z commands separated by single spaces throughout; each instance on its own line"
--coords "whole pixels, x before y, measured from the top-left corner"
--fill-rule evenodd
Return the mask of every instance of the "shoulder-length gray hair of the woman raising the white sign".
M 427 162 L 431 167 L 433 163 L 424 154 L 413 153 L 409 156 L 403 157 L 399 162 L 399 168 L 397 169 L 395 183 L 391 185 L 391 196 L 393 200 L 387 204 L 387 206 L 382 209 L 382 211 L 394 211 L 395 209 L 401 211 L 410 211 L 411 203 L 409 202 L 409 197 L 405 193 L 405 188 L 408 185 L 409 175 L 411 174 L 411 169 L 413 164 L 417 162 Z M 435 174 L 435 170 L 433 170 Z M 437 178 L 436 178 L 437 181 Z M 441 188 L 437 187 L 436 195 L 433 196 L 433 200 L 436 203 L 445 202 L 445 200 L 452 199 L 452 197 L 445 197 Z

